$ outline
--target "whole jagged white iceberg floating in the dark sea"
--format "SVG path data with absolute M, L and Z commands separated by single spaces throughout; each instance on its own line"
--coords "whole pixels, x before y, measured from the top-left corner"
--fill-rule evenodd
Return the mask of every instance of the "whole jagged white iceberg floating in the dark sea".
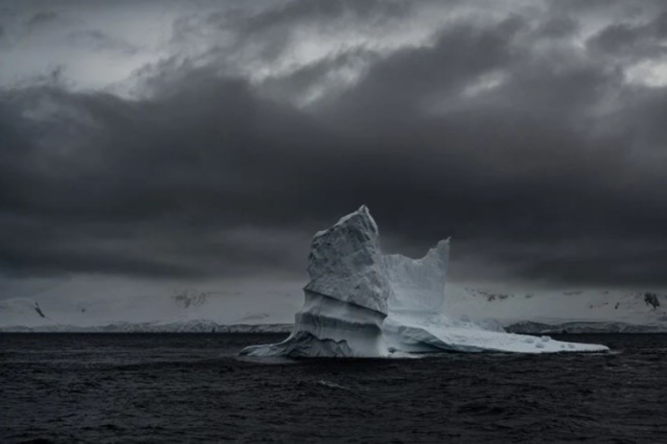
M 251 345 L 256 357 L 390 357 L 442 351 L 606 351 L 488 330 L 443 314 L 449 240 L 421 259 L 383 255 L 378 226 L 362 206 L 317 232 L 308 257 L 310 281 L 294 328 L 284 341 Z

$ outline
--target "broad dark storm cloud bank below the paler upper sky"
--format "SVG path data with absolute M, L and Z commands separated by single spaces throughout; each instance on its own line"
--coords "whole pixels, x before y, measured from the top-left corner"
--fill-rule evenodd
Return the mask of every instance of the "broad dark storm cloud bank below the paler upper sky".
M 341 10 L 289 3 L 253 26 Z M 311 234 L 366 203 L 389 250 L 454 236 L 460 277 L 667 284 L 667 89 L 630 85 L 598 54 L 656 46 L 660 19 L 642 26 L 582 50 L 569 17 L 461 19 L 430 45 L 348 48 L 259 85 L 166 61 L 141 101 L 3 91 L 0 264 L 299 273 Z M 358 60 L 342 93 L 281 99 Z

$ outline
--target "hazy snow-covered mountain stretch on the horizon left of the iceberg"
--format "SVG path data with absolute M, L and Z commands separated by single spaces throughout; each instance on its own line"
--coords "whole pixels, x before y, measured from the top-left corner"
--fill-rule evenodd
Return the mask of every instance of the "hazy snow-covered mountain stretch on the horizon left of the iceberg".
M 49 296 L 0 300 L 0 332 L 283 332 L 299 304 L 285 292 L 257 298 L 192 289 L 166 296 Z

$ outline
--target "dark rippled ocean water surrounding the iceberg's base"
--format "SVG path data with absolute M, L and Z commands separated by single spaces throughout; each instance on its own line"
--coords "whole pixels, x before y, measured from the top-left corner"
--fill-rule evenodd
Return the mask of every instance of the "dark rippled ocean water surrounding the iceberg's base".
M 236 357 L 281 337 L 2 333 L 0 442 L 667 442 L 667 335 L 554 336 L 603 354 Z

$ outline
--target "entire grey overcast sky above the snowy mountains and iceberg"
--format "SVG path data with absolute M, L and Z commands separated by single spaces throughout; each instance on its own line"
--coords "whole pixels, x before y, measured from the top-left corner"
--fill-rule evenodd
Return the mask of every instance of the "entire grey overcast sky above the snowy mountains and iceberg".
M 455 280 L 664 287 L 666 166 L 662 0 L 0 1 L 0 298 L 305 280 L 362 203 Z

